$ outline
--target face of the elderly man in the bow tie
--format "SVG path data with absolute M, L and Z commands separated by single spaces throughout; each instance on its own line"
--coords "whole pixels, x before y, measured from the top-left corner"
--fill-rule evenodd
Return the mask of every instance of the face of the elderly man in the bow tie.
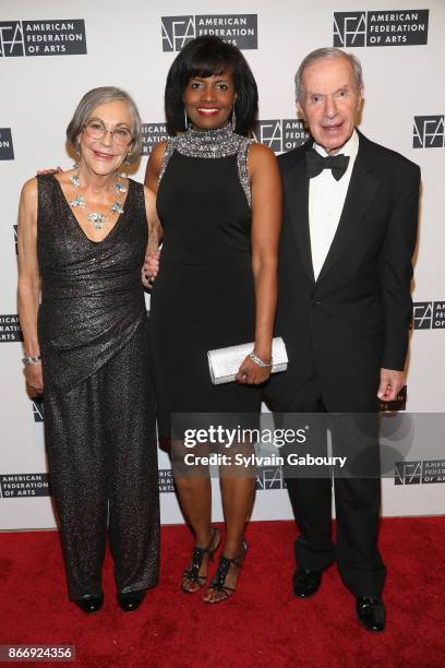
M 335 155 L 351 136 L 361 103 L 362 91 L 346 58 L 325 58 L 304 69 L 298 109 L 328 154 Z

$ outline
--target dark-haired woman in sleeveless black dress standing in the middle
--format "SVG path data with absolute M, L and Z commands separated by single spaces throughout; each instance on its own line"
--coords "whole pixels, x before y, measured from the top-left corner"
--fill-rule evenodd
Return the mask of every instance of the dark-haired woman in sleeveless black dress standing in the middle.
M 276 305 L 280 181 L 274 154 L 246 139 L 257 91 L 241 52 L 216 37 L 189 43 L 166 85 L 169 134 L 151 156 L 145 183 L 158 189 L 164 230 L 151 306 L 152 365 L 159 433 L 171 438 L 175 413 L 258 414 L 269 375 Z M 236 383 L 213 385 L 207 350 L 254 342 Z M 170 443 L 171 446 L 171 443 Z M 197 473 L 197 470 L 196 470 Z M 173 475 L 195 534 L 182 591 L 205 585 L 220 536 L 211 524 L 207 475 Z M 245 554 L 254 477 L 220 470 L 227 535 L 204 597 L 230 596 Z

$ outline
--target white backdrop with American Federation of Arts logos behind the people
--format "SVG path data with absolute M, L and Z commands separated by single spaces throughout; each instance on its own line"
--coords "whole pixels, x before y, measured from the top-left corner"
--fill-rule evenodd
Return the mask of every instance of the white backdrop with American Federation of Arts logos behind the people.
M 147 155 L 165 139 L 163 94 L 178 50 L 197 35 L 236 44 L 260 88 L 256 138 L 277 153 L 300 145 L 293 75 L 312 49 L 339 46 L 363 64 L 362 131 L 422 168 L 408 392 L 398 407 L 408 431 L 416 416 L 440 414 L 445 378 L 443 0 L 2 0 L 0 3 L 0 529 L 52 527 L 44 443 L 44 408 L 22 373 L 16 309 L 16 223 L 22 183 L 38 168 L 70 166 L 65 128 L 81 96 L 117 85 L 135 98 Z M 229 298 L 229 297 L 228 297 Z M 193 299 L 193 295 L 190 295 Z M 149 300 L 147 299 L 149 307 Z M 419 416 L 418 416 L 419 417 Z M 394 418 L 393 418 L 394 419 Z M 406 422 L 406 421 L 405 421 Z M 407 427 L 400 428 L 407 431 Z M 429 437 L 422 437 L 429 441 Z M 418 439 L 419 440 L 419 439 Z M 395 462 L 383 480 L 385 515 L 444 512 L 445 455 L 425 449 Z M 397 458 L 397 457 L 396 457 Z M 401 458 L 401 457 L 400 457 Z M 182 522 L 168 457 L 159 453 L 164 523 Z M 85 490 L 88 493 L 88 490 Z M 220 517 L 219 494 L 215 515 Z M 257 476 L 253 518 L 290 517 L 281 473 Z

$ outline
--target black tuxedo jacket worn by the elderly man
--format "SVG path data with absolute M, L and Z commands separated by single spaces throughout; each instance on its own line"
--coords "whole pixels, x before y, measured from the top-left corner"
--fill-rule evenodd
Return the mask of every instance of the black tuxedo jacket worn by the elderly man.
M 279 405 L 314 374 L 328 410 L 373 410 L 380 368 L 404 369 L 412 302 L 420 169 L 359 132 L 359 152 L 329 252 L 314 279 L 305 152 L 278 158 L 284 186 L 276 334 L 289 355 L 272 377 Z

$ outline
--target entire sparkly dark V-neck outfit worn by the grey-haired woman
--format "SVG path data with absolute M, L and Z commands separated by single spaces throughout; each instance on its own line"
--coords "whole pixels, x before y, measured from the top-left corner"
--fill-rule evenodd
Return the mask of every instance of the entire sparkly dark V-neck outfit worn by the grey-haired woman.
M 39 176 L 38 335 L 45 437 L 70 598 L 101 593 L 107 537 L 119 592 L 158 580 L 154 398 L 141 267 L 141 183 L 100 242 L 80 227 L 52 175 Z

